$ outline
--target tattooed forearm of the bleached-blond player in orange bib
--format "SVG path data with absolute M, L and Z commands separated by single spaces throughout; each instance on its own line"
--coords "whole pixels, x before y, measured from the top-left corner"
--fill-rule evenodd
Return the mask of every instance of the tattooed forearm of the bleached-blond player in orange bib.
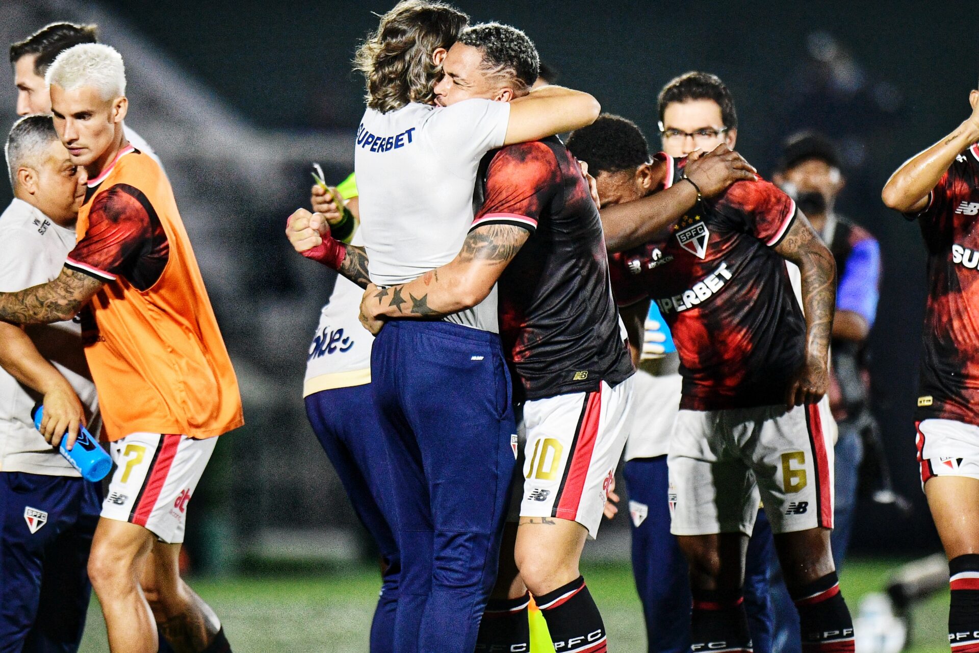
M 102 285 L 95 277 L 63 268 L 54 281 L 17 293 L 0 293 L 0 320 L 15 324 L 70 320 Z

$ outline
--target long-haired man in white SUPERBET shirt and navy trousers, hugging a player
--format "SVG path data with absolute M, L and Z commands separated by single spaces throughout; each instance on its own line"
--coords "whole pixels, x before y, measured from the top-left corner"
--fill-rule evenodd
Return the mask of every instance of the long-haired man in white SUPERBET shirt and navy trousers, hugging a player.
M 489 150 L 588 124 L 590 95 L 546 86 L 513 102 L 428 104 L 465 15 L 399 3 L 357 55 L 367 111 L 354 165 L 364 248 L 302 247 L 359 282 L 408 282 L 458 253 Z M 408 36 L 405 36 L 408 34 Z M 412 44 L 405 47 L 405 43 Z M 453 88 L 472 80 L 447 75 Z M 293 230 L 309 217 L 294 213 Z M 302 239 L 300 239 L 302 240 Z M 465 651 L 494 583 L 516 438 L 496 298 L 444 320 L 399 320 L 380 335 L 371 379 L 390 451 L 401 549 L 396 649 Z

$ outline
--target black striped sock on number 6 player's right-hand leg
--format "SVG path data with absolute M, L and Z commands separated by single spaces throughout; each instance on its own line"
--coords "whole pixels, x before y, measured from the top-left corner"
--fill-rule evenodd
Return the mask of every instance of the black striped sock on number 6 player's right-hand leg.
M 799 611 L 803 653 L 853 653 L 854 623 L 836 572 L 789 587 Z

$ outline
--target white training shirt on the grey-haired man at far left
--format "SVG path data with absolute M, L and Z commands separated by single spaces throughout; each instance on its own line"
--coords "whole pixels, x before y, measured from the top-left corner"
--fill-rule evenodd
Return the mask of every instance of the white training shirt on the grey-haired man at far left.
M 73 229 L 55 224 L 40 210 L 15 199 L 0 215 L 0 292 L 16 292 L 56 279 L 74 248 L 74 238 Z M 68 379 L 89 411 L 89 432 L 98 438 L 99 403 L 81 347 L 80 323 L 31 325 L 26 332 L 41 355 Z M 0 368 L 0 471 L 79 476 L 34 429 L 30 410 L 40 398 Z

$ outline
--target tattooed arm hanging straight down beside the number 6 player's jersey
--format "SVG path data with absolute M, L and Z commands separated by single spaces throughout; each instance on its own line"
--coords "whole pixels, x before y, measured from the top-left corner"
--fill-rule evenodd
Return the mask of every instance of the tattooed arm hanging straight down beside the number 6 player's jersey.
M 792 377 L 787 405 L 815 403 L 829 388 L 829 341 L 836 306 L 836 262 L 798 212 L 775 252 L 802 272 L 803 312 L 806 315 L 806 361 Z

